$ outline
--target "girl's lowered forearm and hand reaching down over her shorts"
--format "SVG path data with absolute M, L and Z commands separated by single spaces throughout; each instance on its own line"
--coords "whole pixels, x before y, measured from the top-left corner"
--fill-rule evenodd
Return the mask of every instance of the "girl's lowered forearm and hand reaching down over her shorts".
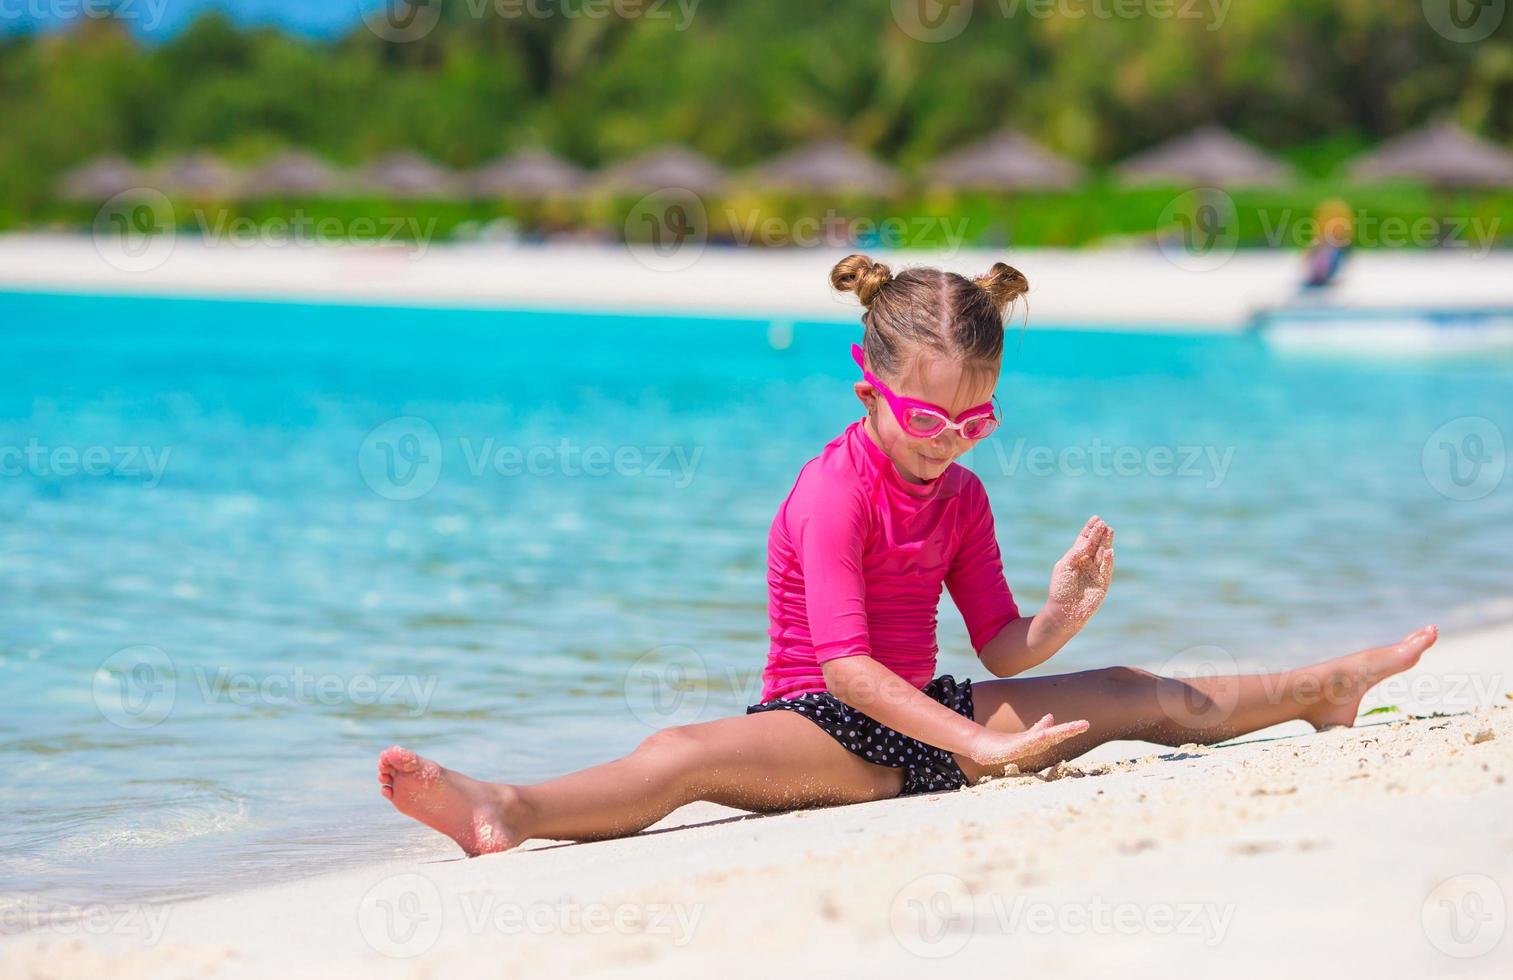
M 831 694 L 856 711 L 977 765 L 1017 762 L 1088 730 L 1086 721 L 1056 724 L 1045 715 L 1026 732 L 994 732 L 929 697 L 871 656 L 832 659 L 823 670 Z

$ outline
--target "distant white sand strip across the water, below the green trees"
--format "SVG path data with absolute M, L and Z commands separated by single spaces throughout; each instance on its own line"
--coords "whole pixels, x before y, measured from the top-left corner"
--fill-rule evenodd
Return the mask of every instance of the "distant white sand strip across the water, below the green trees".
M 304 299 L 495 309 L 856 319 L 831 295 L 852 250 L 708 247 L 672 260 L 623 245 L 336 247 L 206 242 L 177 236 L 126 254 L 83 234 L 0 236 L 0 289 Z M 1030 280 L 1030 325 L 1238 330 L 1297 293 L 1300 256 L 1236 251 L 1194 265 L 1154 247 L 885 253 L 894 266 L 977 275 L 1008 260 Z M 1513 254 L 1363 251 L 1328 302 L 1344 307 L 1513 305 Z

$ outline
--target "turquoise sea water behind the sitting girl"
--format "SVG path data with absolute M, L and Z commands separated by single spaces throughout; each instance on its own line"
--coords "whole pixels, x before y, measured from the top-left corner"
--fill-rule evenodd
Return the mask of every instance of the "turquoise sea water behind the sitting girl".
M 859 414 L 855 328 L 787 334 L 0 295 L 9 900 L 387 858 L 428 836 L 377 794 L 393 741 L 528 780 L 755 699 L 767 523 Z M 1053 667 L 1283 665 L 1507 614 L 1508 363 L 1014 348 L 970 464 L 1021 602 L 1089 513 L 1118 529 L 1111 597 Z M 941 638 L 971 675 L 949 606 Z

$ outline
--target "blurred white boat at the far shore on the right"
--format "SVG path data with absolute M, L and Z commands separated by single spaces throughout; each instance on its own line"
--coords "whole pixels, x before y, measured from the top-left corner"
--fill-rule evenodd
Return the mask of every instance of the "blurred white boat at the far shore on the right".
M 1513 307 L 1289 305 L 1251 318 L 1268 346 L 1351 357 L 1463 357 L 1513 352 Z

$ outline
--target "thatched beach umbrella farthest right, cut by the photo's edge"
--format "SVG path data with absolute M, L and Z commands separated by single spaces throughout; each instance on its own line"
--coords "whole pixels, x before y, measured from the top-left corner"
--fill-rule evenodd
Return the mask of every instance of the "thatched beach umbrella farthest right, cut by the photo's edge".
M 1353 180 L 1422 180 L 1437 188 L 1513 186 L 1513 153 L 1454 122 L 1393 136 L 1350 162 Z

